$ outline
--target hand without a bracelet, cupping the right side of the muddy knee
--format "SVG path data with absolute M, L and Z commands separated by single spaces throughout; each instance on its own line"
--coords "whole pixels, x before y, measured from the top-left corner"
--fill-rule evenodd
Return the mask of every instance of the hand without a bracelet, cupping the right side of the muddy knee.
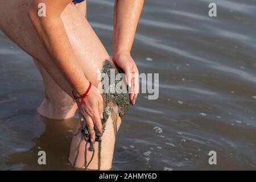
M 139 89 L 139 71 L 137 65 L 131 57 L 130 52 L 122 52 L 114 55 L 113 61 L 125 73 L 127 85 L 131 88 L 130 101 L 134 105 Z

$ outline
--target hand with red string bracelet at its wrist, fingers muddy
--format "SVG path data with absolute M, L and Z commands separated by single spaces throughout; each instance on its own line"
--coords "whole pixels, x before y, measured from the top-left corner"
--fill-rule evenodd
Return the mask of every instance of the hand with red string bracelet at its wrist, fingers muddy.
M 76 96 L 79 97 L 79 96 Z M 96 125 L 98 131 L 102 135 L 102 123 L 101 119 L 103 119 L 103 99 L 96 88 L 96 86 L 92 85 L 89 90 L 88 96 L 84 99 L 82 105 L 80 105 L 81 98 L 77 98 L 77 106 L 79 109 L 79 115 L 85 119 L 86 126 L 88 127 L 88 131 L 90 134 L 90 141 L 95 141 L 95 131 L 93 129 L 94 125 Z

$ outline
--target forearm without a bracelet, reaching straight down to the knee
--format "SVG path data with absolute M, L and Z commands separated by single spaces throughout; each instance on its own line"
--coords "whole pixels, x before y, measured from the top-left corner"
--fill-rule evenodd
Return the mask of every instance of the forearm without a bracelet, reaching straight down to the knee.
M 141 15 L 143 0 L 115 0 L 113 55 L 130 52 Z

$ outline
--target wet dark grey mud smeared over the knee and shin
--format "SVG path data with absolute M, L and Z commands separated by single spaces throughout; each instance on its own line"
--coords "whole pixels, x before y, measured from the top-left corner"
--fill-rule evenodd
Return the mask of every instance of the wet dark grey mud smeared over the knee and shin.
M 109 77 L 109 88 L 104 88 L 104 85 L 102 86 L 102 89 L 108 89 L 109 92 L 103 93 L 102 98 L 104 101 L 104 118 L 101 119 L 102 123 L 102 129 L 103 132 L 105 131 L 106 122 L 108 121 L 109 117 L 112 118 L 113 121 L 113 127 L 114 127 L 114 134 L 117 135 L 117 119 L 120 117 L 121 119 L 125 116 L 128 106 L 130 104 L 129 99 L 129 92 L 126 93 L 112 93 L 110 92 L 111 88 L 115 88 L 115 85 L 117 85 L 118 82 L 121 80 L 115 80 L 114 85 L 110 85 L 110 70 L 115 70 L 115 76 L 118 73 L 122 73 L 121 70 L 118 70 L 115 68 L 115 65 L 110 62 L 109 60 L 105 60 L 104 64 L 102 66 L 101 74 L 105 73 Z M 104 77 L 102 77 L 101 82 L 104 81 Z M 123 81 L 123 80 L 122 80 Z M 113 83 L 112 83 L 113 84 Z M 128 90 L 128 88 L 126 88 Z M 94 157 L 94 145 L 92 142 L 90 142 L 90 135 L 88 132 L 88 127 L 86 125 L 82 125 L 81 129 L 79 130 L 82 133 L 82 137 L 85 138 L 86 146 L 85 146 L 85 169 L 89 166 L 90 162 L 92 162 L 92 159 Z M 98 129 L 96 126 L 94 126 L 94 131 L 96 134 L 96 142 L 98 142 L 98 169 L 101 167 L 101 134 L 98 132 Z M 87 146 L 88 143 L 90 144 L 89 150 L 93 152 L 92 158 L 89 162 L 86 161 L 86 152 L 87 152 Z

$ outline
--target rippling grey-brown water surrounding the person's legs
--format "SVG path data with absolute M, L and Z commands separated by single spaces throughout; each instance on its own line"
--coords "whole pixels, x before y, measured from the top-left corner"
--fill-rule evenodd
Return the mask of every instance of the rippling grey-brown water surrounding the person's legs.
M 210 2 L 145 1 L 132 55 L 141 73 L 159 73 L 159 98 L 141 94 L 130 107 L 113 169 L 256 169 L 256 2 L 214 1 L 217 18 Z M 88 0 L 88 18 L 111 52 L 113 1 Z M 2 33 L 0 75 L 0 169 L 72 169 L 76 119 L 36 114 L 42 78 Z M 46 166 L 37 164 L 42 148 Z

